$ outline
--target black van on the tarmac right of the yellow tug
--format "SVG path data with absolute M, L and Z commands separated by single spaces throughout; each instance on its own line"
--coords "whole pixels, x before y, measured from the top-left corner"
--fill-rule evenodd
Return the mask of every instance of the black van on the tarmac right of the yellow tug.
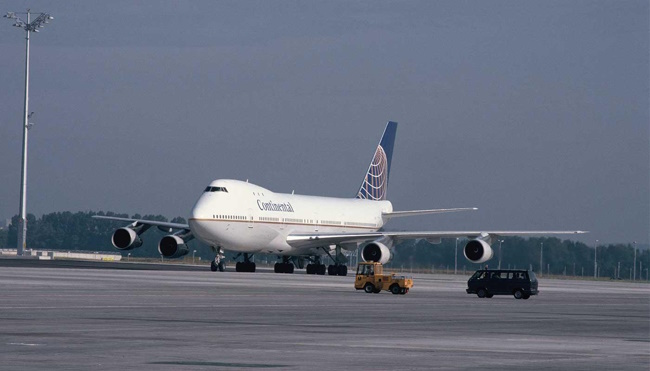
M 481 269 L 467 281 L 466 291 L 479 298 L 513 295 L 515 299 L 528 299 L 538 293 L 537 277 L 529 270 Z

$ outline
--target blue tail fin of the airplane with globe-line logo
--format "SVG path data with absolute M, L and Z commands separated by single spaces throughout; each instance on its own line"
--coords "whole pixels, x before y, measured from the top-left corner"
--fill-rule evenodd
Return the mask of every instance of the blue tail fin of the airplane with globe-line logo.
M 370 162 L 370 166 L 368 166 L 365 178 L 363 178 L 357 198 L 375 201 L 386 199 L 390 160 L 393 158 L 396 133 L 397 123 L 388 121 L 386 129 L 384 129 L 384 135 L 381 136 L 375 155 Z

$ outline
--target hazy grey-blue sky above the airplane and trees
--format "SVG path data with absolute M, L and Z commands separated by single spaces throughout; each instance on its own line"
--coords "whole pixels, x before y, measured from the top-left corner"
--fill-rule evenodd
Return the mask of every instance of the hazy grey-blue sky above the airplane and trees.
M 11 1 L 27 210 L 187 217 L 213 179 L 353 197 L 387 121 L 399 230 L 650 241 L 648 1 Z M 0 19 L 0 218 L 24 31 Z

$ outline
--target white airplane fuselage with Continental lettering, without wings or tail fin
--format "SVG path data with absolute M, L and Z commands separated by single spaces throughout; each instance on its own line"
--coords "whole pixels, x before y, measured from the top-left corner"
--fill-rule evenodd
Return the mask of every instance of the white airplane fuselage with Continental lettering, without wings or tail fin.
M 200 241 L 245 253 L 300 255 L 287 243 L 290 234 L 375 232 L 390 213 L 390 201 L 274 193 L 238 180 L 210 183 L 199 197 L 189 225 Z

